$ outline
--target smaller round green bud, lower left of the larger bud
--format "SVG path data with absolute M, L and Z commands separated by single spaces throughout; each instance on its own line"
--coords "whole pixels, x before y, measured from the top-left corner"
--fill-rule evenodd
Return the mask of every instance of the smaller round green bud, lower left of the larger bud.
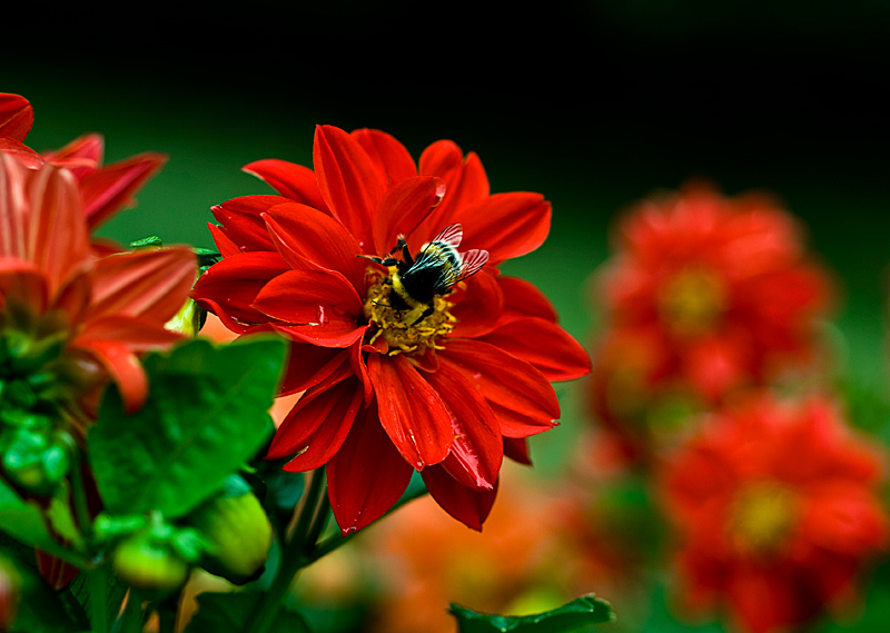
M 189 565 L 171 547 L 148 532 L 130 536 L 113 554 L 115 572 L 139 589 L 172 591 L 188 578 Z

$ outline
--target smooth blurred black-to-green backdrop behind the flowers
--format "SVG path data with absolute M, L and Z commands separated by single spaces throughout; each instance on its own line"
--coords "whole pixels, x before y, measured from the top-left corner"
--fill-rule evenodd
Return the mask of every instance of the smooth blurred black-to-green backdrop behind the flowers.
M 493 191 L 540 191 L 553 202 L 550 240 L 505 268 L 541 287 L 564 326 L 589 340 L 599 325 L 589 278 L 624 207 L 692 177 L 728 194 L 767 189 L 837 276 L 832 323 L 850 382 L 888 393 L 883 0 L 4 11 L 0 90 L 31 100 L 31 147 L 99 131 L 107 161 L 144 150 L 170 157 L 105 235 L 211 246 L 211 205 L 268 191 L 240 167 L 310 165 L 316 123 L 383 129 L 415 157 L 451 138 L 481 156 Z M 580 387 L 557 390 L 563 426 L 532 443 L 543 482 L 560 481 L 586 424 Z

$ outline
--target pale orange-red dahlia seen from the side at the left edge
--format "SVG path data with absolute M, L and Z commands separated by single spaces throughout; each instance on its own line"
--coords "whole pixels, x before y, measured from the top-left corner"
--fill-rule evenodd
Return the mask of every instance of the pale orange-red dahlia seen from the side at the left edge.
M 109 376 L 136 408 L 147 393 L 137 356 L 180 338 L 164 324 L 188 298 L 195 256 L 166 248 L 97 259 L 90 246 L 75 175 L 0 152 L 0 344 L 11 364 L 0 369 L 10 379 L 46 370 L 72 399 Z

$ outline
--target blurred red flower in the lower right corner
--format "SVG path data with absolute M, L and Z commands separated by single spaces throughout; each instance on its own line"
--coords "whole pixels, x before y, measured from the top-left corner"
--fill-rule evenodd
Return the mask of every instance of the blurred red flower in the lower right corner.
M 851 597 L 888 542 L 878 454 L 821 397 L 716 414 L 668 462 L 686 599 L 743 631 L 787 631 Z

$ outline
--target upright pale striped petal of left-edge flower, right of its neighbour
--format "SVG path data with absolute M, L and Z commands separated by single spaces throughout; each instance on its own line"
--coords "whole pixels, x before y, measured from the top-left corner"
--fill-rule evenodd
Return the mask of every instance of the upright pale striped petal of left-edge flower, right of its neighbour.
M 50 165 L 28 171 L 31 214 L 27 256 L 47 274 L 53 295 L 72 269 L 89 257 L 80 194 L 71 172 Z

